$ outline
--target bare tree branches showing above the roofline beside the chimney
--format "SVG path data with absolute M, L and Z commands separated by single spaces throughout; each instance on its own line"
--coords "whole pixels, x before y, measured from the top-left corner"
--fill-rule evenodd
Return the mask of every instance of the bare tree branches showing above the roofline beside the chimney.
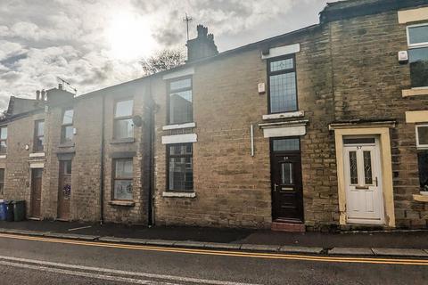
M 180 50 L 162 50 L 140 61 L 146 75 L 175 68 L 185 63 L 185 54 Z

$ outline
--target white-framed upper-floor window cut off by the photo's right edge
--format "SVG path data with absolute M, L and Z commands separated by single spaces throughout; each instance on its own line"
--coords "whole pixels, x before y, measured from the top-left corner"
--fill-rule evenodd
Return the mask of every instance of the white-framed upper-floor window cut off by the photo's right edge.
M 407 27 L 412 87 L 428 87 L 428 23 Z

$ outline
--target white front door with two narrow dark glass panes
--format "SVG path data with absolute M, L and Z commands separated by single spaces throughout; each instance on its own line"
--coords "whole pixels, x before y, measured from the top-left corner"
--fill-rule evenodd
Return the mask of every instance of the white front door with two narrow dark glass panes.
M 376 138 L 344 138 L 347 222 L 383 224 L 379 142 Z

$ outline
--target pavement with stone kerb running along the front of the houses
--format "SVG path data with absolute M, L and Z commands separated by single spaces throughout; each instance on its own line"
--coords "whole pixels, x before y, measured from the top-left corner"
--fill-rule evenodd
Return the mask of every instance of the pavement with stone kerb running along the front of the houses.
M 6 226 L 6 228 L 2 226 Z M 47 221 L 0 222 L 1 232 L 176 248 L 210 248 L 334 256 L 418 256 L 428 258 L 428 232 L 289 233 L 184 227 L 147 228 L 118 224 L 100 226 L 98 224 Z M 169 237 L 177 240 L 164 239 Z M 308 246 L 306 246 L 307 244 Z

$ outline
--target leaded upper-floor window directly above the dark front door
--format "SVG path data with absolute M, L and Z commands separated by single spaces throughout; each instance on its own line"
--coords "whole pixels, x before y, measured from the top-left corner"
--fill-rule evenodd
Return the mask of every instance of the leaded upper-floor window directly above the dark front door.
M 295 57 L 268 61 L 269 113 L 297 110 Z

